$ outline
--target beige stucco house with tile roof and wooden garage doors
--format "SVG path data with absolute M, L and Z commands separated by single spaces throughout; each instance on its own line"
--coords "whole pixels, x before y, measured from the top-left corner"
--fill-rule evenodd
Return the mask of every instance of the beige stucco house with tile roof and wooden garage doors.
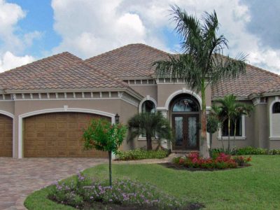
M 63 52 L 1 73 L 0 156 L 105 157 L 83 151 L 82 128 L 90 118 L 115 123 L 118 113 L 127 123 L 142 111 L 161 111 L 170 120 L 172 150 L 198 150 L 200 92 L 180 78 L 156 78 L 151 66 L 168 55 L 130 44 L 85 60 Z M 255 106 L 237 123 L 237 146 L 280 148 L 280 76 L 247 64 L 246 75 L 207 87 L 207 109 L 230 93 Z M 225 132 L 214 135 L 214 147 Z M 145 146 L 144 140 L 125 141 L 121 149 Z

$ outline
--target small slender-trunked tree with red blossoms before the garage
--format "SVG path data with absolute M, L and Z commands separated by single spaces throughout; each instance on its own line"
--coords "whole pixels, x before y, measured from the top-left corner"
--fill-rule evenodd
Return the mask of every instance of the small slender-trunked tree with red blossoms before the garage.
M 112 153 L 116 153 L 123 143 L 127 127 L 113 124 L 103 119 L 92 119 L 90 125 L 83 131 L 86 149 L 95 148 L 109 153 L 109 182 L 112 186 Z

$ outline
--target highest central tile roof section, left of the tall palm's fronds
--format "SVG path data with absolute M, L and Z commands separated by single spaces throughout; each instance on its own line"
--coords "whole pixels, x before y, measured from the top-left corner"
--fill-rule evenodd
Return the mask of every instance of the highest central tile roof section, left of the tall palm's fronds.
M 86 59 L 85 62 L 100 71 L 119 78 L 150 77 L 153 62 L 167 58 L 169 53 L 141 43 L 125 45 Z

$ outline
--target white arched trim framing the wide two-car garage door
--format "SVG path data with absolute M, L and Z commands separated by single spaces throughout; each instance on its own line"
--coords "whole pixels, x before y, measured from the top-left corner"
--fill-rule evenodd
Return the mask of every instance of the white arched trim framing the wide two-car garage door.
M 22 158 L 22 120 L 30 116 L 36 116 L 43 113 L 56 113 L 56 112 L 80 112 L 80 113 L 94 113 L 100 116 L 106 116 L 111 118 L 111 123 L 115 123 L 115 114 L 104 111 L 98 111 L 94 109 L 79 109 L 79 108 L 68 108 L 64 105 L 63 108 L 57 109 L 43 109 L 38 111 L 31 111 L 18 116 L 18 158 Z

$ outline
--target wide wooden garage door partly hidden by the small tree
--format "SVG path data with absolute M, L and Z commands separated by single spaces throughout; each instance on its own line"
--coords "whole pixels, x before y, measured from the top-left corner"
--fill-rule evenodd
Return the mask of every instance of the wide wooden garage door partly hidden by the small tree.
M 24 157 L 107 157 L 105 152 L 83 149 L 82 130 L 91 118 L 104 117 L 89 113 L 47 113 L 25 118 Z

